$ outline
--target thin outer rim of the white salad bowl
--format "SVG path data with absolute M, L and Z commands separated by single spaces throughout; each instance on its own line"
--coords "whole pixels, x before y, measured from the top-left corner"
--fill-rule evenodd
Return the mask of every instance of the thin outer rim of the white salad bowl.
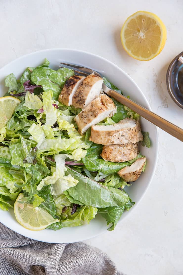
M 141 96 L 143 97 L 144 101 L 146 102 L 146 104 L 147 104 L 147 106 L 148 106 L 147 108 L 148 108 L 150 111 L 152 111 L 151 106 L 150 106 L 150 104 L 149 104 L 147 98 L 146 98 L 145 95 L 143 94 L 142 90 L 139 88 L 139 86 L 135 83 L 135 81 L 134 81 L 134 80 L 124 71 L 124 70 L 122 70 L 120 67 L 118 67 L 116 64 L 114 64 L 113 62 L 109 61 L 108 59 L 106 59 L 106 58 L 104 58 L 104 57 L 102 57 L 102 56 L 99 56 L 99 55 L 97 55 L 97 54 L 88 52 L 88 51 L 78 50 L 78 49 L 74 49 L 74 48 L 48 48 L 48 49 L 42 49 L 42 50 L 38 50 L 38 51 L 33 51 L 33 52 L 31 52 L 31 53 L 28 53 L 28 54 L 25 54 L 25 55 L 23 55 L 23 56 L 20 56 L 20 57 L 14 59 L 13 61 L 7 63 L 7 64 L 4 65 L 2 68 L 0 68 L 0 72 L 1 72 L 2 70 L 4 70 L 6 67 L 12 65 L 13 63 L 15 63 L 15 62 L 17 62 L 17 61 L 21 61 L 21 59 L 24 59 L 24 58 L 26 58 L 26 57 L 28 57 L 28 56 L 31 56 L 32 54 L 41 53 L 41 52 L 47 52 L 47 51 L 58 51 L 58 50 L 62 50 L 62 51 L 75 51 L 75 52 L 85 53 L 85 54 L 89 54 L 90 56 L 95 56 L 95 57 L 100 58 L 100 59 L 102 59 L 102 60 L 104 60 L 104 61 L 107 61 L 110 65 L 112 65 L 112 66 L 116 67 L 118 70 L 120 70 L 120 72 L 122 72 L 122 73 L 126 76 L 126 78 L 129 79 L 129 81 L 133 82 L 134 86 L 136 86 L 136 88 L 139 90 Z M 149 187 L 150 187 L 150 184 L 151 184 L 151 182 L 152 182 L 152 179 L 153 179 L 153 177 L 154 177 L 154 173 L 155 173 L 155 170 L 156 170 L 157 159 L 158 159 L 159 144 L 158 144 L 157 127 L 156 127 L 156 125 L 154 125 L 154 127 L 155 127 L 155 136 L 156 136 L 156 139 L 154 140 L 154 142 L 155 142 L 155 144 L 156 144 L 156 154 L 155 154 L 155 158 L 154 158 L 154 168 L 153 168 L 153 171 L 152 171 L 152 173 L 151 173 L 149 182 L 148 182 L 148 184 L 146 185 L 145 190 L 143 191 L 143 194 L 141 195 L 139 201 L 135 203 L 134 207 L 132 207 L 131 211 L 133 211 L 134 209 L 136 209 L 136 207 L 139 205 L 139 203 L 140 203 L 140 202 L 142 201 L 142 199 L 144 198 L 145 194 L 147 193 L 147 190 L 148 190 Z M 131 211 L 130 211 L 130 213 L 131 213 Z M 118 223 L 121 223 L 127 216 L 128 216 L 128 215 L 123 216 L 123 219 L 122 219 L 122 220 L 119 220 Z M 10 225 L 10 226 L 9 226 L 9 225 L 6 225 L 6 224 L 4 224 L 4 225 L 7 226 L 9 229 L 13 230 L 14 232 L 16 232 L 16 233 L 22 235 L 22 236 L 25 236 L 25 237 L 27 237 L 27 238 L 32 238 L 32 237 L 29 236 L 29 233 L 27 233 L 27 234 L 22 234 L 22 233 L 19 233 L 18 230 L 12 228 L 11 225 Z M 29 231 L 29 230 L 28 230 L 28 231 Z M 101 234 L 103 234 L 103 233 L 106 233 L 106 232 L 107 232 L 107 227 L 106 227 L 105 230 L 101 230 L 101 232 L 99 232 L 99 233 L 97 233 L 97 234 L 94 234 L 94 235 L 91 235 L 89 238 L 85 238 L 85 239 L 82 239 L 82 240 L 81 240 L 81 239 L 78 239 L 78 240 L 76 239 L 76 240 L 71 241 L 71 242 L 77 242 L 77 241 L 88 240 L 88 239 L 90 239 L 90 238 L 97 237 L 97 236 L 99 236 L 99 235 L 101 235 Z M 37 241 L 43 241 L 43 242 L 45 242 L 45 240 L 40 240 L 39 238 L 36 238 L 36 237 L 33 237 L 32 239 L 33 239 L 33 240 L 37 240 Z M 55 242 L 49 241 L 49 243 L 55 243 Z M 62 242 L 62 243 L 63 243 L 63 242 Z

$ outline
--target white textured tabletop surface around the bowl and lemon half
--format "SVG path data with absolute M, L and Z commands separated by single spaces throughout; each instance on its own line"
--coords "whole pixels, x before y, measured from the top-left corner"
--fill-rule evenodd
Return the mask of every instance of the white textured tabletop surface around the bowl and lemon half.
M 168 65 L 183 50 L 182 7 L 181 0 L 0 0 L 0 67 L 45 48 L 89 51 L 125 70 L 153 111 L 183 128 L 183 109 L 165 82 Z M 137 10 L 156 13 L 167 27 L 164 50 L 148 62 L 129 57 L 120 43 L 125 19 Z M 114 232 L 86 241 L 127 275 L 183 274 L 183 144 L 162 130 L 158 135 L 157 169 L 141 204 Z

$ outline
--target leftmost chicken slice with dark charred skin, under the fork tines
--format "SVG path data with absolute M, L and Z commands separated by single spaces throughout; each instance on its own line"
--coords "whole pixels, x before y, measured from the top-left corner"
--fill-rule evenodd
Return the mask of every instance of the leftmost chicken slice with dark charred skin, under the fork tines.
M 64 105 L 72 105 L 72 99 L 77 92 L 77 89 L 81 85 L 85 76 L 73 75 L 68 80 L 66 80 L 65 85 L 59 95 L 58 101 L 62 102 Z

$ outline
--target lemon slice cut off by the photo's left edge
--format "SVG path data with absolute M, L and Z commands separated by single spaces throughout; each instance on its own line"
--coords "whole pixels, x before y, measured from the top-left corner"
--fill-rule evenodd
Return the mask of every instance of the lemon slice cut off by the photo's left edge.
M 21 101 L 15 97 L 0 97 L 0 129 L 6 125 L 12 117 L 15 107 Z

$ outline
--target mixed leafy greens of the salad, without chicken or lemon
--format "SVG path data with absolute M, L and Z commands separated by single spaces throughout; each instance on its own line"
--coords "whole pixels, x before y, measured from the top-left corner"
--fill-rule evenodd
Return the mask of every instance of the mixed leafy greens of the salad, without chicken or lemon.
M 123 190 L 129 183 L 117 172 L 134 160 L 109 162 L 100 156 L 102 146 L 81 136 L 75 116 L 81 111 L 65 106 L 58 96 L 65 81 L 74 75 L 68 68 L 57 71 L 43 65 L 28 67 L 19 80 L 11 73 L 5 79 L 6 95 L 21 100 L 0 135 L 0 208 L 8 210 L 19 193 L 23 202 L 41 207 L 59 222 L 48 228 L 61 229 L 88 224 L 100 213 L 113 230 L 123 211 L 134 205 Z M 104 83 L 122 93 L 104 78 Z M 117 113 L 101 125 L 118 123 L 139 115 L 112 99 Z M 148 133 L 143 145 L 150 147 Z

